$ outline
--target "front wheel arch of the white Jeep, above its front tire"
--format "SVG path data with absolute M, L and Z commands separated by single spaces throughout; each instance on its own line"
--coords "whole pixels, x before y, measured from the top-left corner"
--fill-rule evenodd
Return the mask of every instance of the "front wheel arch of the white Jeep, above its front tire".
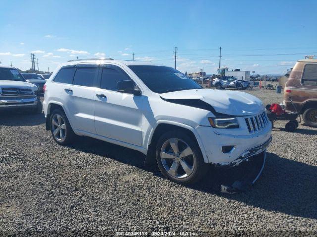
M 203 143 L 193 127 L 186 124 L 172 122 L 172 121 L 160 121 L 157 123 L 156 127 L 151 130 L 151 133 L 149 135 L 148 142 L 147 142 L 148 151 L 147 151 L 144 164 L 150 164 L 155 162 L 156 142 L 159 140 L 159 137 L 164 132 L 171 131 L 171 130 L 180 130 L 185 132 L 190 137 L 192 137 L 195 140 L 195 142 L 198 144 L 201 150 L 202 156 L 204 158 L 204 162 L 208 163 L 207 156 L 203 152 L 204 151 Z

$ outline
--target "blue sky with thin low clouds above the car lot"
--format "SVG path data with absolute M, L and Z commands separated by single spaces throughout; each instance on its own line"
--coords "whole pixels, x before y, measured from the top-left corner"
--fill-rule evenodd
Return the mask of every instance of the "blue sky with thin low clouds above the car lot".
M 317 55 L 316 0 L 2 0 L 0 61 L 53 71 L 70 59 L 153 61 L 182 72 L 285 73 Z

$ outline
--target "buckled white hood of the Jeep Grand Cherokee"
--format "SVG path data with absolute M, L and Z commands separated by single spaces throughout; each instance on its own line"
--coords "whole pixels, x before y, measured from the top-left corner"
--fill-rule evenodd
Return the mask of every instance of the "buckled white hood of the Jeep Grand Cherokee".
M 258 114 L 263 110 L 260 99 L 245 92 L 198 89 L 164 93 L 160 95 L 166 100 L 202 100 L 221 114 L 247 116 Z

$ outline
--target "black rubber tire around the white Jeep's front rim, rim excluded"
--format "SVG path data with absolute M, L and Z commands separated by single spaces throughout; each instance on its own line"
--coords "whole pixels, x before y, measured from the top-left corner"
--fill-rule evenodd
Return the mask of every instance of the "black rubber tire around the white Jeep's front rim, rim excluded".
M 176 178 L 172 177 L 168 174 L 166 169 L 164 168 L 161 158 L 160 158 L 160 151 L 161 148 L 164 144 L 164 142 L 170 138 L 178 138 L 183 140 L 184 142 L 187 143 L 187 145 L 192 149 L 194 156 L 195 156 L 195 166 L 192 174 L 186 178 Z M 193 141 L 193 139 L 188 136 L 186 133 L 182 131 L 170 131 L 166 132 L 163 134 L 156 145 L 156 160 L 157 164 L 159 166 L 159 170 L 162 172 L 162 174 L 169 180 L 176 182 L 176 183 L 181 183 L 181 184 L 191 184 L 191 183 L 196 183 L 199 181 L 205 174 L 205 169 L 206 169 L 206 164 L 204 162 L 203 156 L 201 154 L 200 148 L 197 144 L 196 141 Z

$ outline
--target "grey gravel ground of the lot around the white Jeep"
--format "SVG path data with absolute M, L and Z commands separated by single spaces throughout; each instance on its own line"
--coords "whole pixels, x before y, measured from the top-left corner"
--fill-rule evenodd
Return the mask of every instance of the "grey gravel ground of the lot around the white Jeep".
M 275 91 L 246 92 L 264 104 L 282 101 L 282 94 Z M 43 115 L 0 115 L 4 235 L 7 231 L 104 236 L 115 236 L 115 231 L 317 233 L 315 128 L 301 124 L 290 133 L 283 129 L 285 122 L 276 122 L 260 179 L 244 193 L 226 195 L 212 189 L 209 176 L 192 187 L 172 183 L 157 168 L 144 167 L 139 152 L 106 142 L 80 138 L 77 145 L 59 146 L 44 123 Z

